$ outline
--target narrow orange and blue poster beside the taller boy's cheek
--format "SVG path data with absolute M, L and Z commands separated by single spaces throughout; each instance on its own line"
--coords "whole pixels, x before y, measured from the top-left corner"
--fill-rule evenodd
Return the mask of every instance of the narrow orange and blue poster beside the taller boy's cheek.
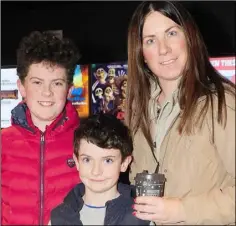
M 89 116 L 89 66 L 77 65 L 73 77 L 73 86 L 69 89 L 68 100 L 75 106 L 79 116 Z

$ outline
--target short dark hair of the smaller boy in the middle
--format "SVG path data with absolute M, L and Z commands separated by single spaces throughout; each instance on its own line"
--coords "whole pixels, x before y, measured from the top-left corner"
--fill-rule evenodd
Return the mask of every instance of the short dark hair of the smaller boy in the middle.
M 80 140 L 85 139 L 100 148 L 119 149 L 122 161 L 132 155 L 132 136 L 127 126 L 111 114 L 95 114 L 85 119 L 74 132 L 74 154 L 78 158 Z

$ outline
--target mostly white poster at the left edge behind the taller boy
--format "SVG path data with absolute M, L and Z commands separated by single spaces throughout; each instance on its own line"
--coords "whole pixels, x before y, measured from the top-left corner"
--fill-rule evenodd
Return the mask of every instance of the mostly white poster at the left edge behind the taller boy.
M 1 128 L 11 125 L 11 110 L 22 101 L 16 68 L 1 68 Z

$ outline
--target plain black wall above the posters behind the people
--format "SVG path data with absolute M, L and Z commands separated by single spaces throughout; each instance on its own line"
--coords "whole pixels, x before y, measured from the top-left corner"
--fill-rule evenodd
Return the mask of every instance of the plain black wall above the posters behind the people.
M 127 59 L 131 15 L 140 2 L 2 2 L 1 64 L 16 64 L 20 39 L 33 30 L 63 30 L 78 45 L 80 63 Z M 211 56 L 235 55 L 235 3 L 183 2 Z

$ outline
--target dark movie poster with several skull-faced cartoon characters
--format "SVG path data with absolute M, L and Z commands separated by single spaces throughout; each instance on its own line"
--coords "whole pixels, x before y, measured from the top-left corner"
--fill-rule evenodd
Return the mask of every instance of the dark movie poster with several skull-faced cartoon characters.
M 92 64 L 92 113 L 111 113 L 124 120 L 127 63 Z

